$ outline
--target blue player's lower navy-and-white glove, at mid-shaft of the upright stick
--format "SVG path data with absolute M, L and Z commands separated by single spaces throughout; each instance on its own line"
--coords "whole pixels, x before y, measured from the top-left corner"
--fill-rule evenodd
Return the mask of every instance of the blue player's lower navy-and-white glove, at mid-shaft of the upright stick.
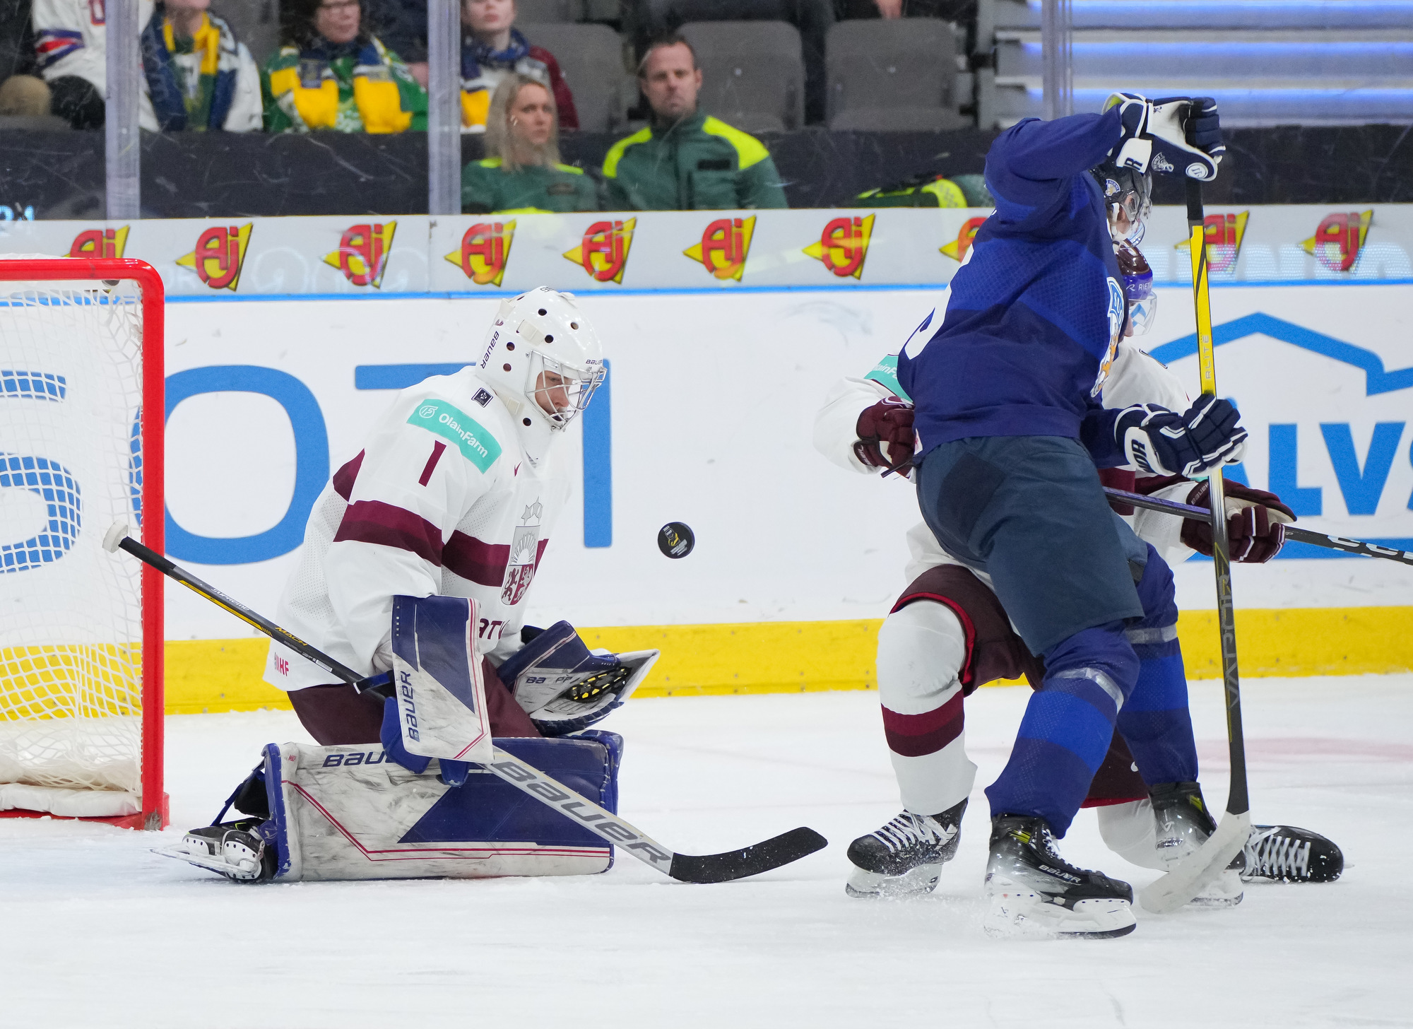
M 1133 404 L 1119 411 L 1113 440 L 1130 465 L 1154 475 L 1200 476 L 1222 461 L 1239 461 L 1246 430 L 1226 400 L 1201 396 L 1184 414 L 1156 404 Z

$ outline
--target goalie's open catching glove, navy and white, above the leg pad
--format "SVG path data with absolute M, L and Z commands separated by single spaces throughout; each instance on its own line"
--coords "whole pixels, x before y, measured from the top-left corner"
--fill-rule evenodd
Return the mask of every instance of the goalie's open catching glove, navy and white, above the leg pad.
M 506 659 L 497 671 L 536 728 L 545 736 L 562 736 L 623 707 L 660 653 L 589 650 L 572 625 L 555 622 Z

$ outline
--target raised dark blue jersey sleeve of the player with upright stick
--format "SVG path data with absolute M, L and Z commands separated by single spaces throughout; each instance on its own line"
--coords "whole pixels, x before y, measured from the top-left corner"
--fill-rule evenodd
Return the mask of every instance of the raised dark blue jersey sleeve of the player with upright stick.
M 1054 122 L 1027 117 L 996 137 L 986 154 L 986 188 L 1002 220 L 1026 218 L 1068 194 L 1068 182 L 1118 146 L 1118 107 Z

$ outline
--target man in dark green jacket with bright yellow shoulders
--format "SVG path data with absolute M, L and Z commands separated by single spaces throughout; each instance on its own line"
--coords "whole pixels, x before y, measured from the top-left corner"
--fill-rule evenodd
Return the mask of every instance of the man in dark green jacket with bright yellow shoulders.
M 653 123 L 603 158 L 609 211 L 788 206 L 760 140 L 697 110 L 702 72 L 687 40 L 668 35 L 649 47 L 639 86 Z

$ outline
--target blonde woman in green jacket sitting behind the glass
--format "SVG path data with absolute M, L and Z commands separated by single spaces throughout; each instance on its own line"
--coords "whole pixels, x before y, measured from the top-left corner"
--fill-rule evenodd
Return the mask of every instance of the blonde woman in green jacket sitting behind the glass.
M 512 72 L 490 98 L 485 161 L 461 174 L 466 213 L 598 211 L 593 180 L 560 163 L 554 95 L 538 79 Z

